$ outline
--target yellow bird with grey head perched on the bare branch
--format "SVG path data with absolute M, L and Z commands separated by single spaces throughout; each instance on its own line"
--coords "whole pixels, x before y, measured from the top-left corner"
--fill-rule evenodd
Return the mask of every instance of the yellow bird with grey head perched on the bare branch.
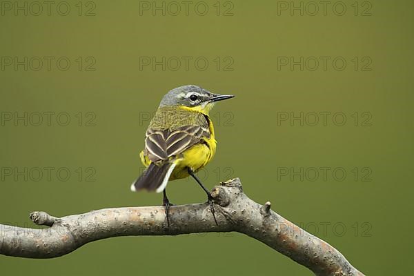
M 207 194 L 217 224 L 213 197 L 195 173 L 204 168 L 216 152 L 215 130 L 208 113 L 217 101 L 233 97 L 186 85 L 170 90 L 159 103 L 146 130 L 144 150 L 139 153 L 146 169 L 132 182 L 130 189 L 132 192 L 163 192 L 168 226 L 168 210 L 173 205 L 166 194 L 168 181 L 190 176 Z

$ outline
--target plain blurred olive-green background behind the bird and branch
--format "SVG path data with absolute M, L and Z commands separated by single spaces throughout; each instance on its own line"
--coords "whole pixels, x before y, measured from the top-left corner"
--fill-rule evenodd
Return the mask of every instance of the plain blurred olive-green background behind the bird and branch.
M 166 6 L 165 15 L 162 10 L 153 15 L 152 10 L 140 14 L 139 1 L 95 1 L 95 6 L 84 1 L 79 16 L 77 1 L 68 1 L 71 10 L 63 16 L 57 13 L 57 3 L 50 15 L 46 10 L 39 16 L 30 10 L 27 16 L 1 10 L 1 224 L 32 227 L 28 219 L 32 210 L 64 216 L 160 204 L 159 194 L 129 189 L 141 171 L 138 154 L 144 145 L 146 118 L 168 90 L 194 83 L 236 95 L 218 103 L 211 113 L 217 155 L 204 175 L 200 172 L 208 188 L 240 177 L 249 197 L 261 204 L 271 201 L 273 210 L 335 246 L 363 273 L 395 275 L 395 268 L 402 275 L 411 273 L 411 1 L 359 1 L 357 15 L 353 1 L 344 1 L 342 16 L 333 12 L 335 1 L 326 15 L 319 5 L 315 16 L 311 15 L 314 6 L 306 6 L 306 1 L 303 16 L 300 10 L 293 10 L 293 15 L 278 10 L 278 5 L 293 5 L 290 1 L 221 1 L 219 15 L 216 1 L 205 1 L 204 16 L 197 14 L 203 6 L 195 11 L 197 1 L 188 15 L 183 4 L 177 15 L 174 6 Z M 341 7 L 336 6 L 336 12 Z M 64 6 L 60 8 L 65 12 Z M 95 16 L 85 15 L 90 8 Z M 36 12 L 32 6 L 32 13 Z M 28 70 L 6 66 L 8 57 L 13 62 L 14 57 L 20 61 L 28 57 Z M 45 61 L 36 71 L 33 57 L 55 59 L 50 70 Z M 59 57 L 70 60 L 68 70 L 57 67 Z M 177 69 L 173 58 L 165 70 L 162 66 L 153 70 L 152 65 L 142 66 L 143 57 L 157 61 L 166 57 L 166 62 L 177 57 L 183 63 Z M 192 58 L 188 70 L 182 57 Z M 304 69 L 281 66 L 278 60 L 284 57 L 295 61 L 304 57 Z M 316 70 L 312 57 L 320 61 Z M 331 58 L 326 70 L 319 57 Z M 340 62 L 335 69 L 335 57 L 346 60 L 344 70 L 338 69 Z M 201 70 L 201 61 L 199 67 L 195 65 L 197 58 L 208 60 L 206 70 Z M 87 67 L 92 61 L 95 64 Z M 91 68 L 95 70 L 86 70 Z M 19 116 L 26 112 L 28 125 L 14 122 L 14 112 Z M 35 126 L 37 112 L 55 112 L 50 126 L 46 115 Z M 59 126 L 59 112 L 69 115 L 68 126 Z M 301 112 L 302 126 L 300 121 L 277 121 L 278 116 Z M 313 112 L 331 112 L 326 126 L 320 115 L 316 126 L 311 126 Z M 337 126 L 340 117 L 333 120 L 337 112 L 346 116 L 344 126 Z M 7 121 L 10 114 L 13 118 Z M 64 124 L 65 118 L 60 117 L 59 123 Z M 362 126 L 365 119 L 371 126 Z M 45 167 L 53 167 L 50 181 L 36 174 L 36 168 L 46 172 Z M 313 168 L 322 172 L 320 167 L 330 168 L 326 179 L 312 174 Z M 10 168 L 11 176 L 6 173 Z M 63 181 L 64 170 L 60 179 L 57 176 L 59 168 L 70 171 L 67 181 Z M 346 171 L 343 181 L 333 176 L 335 168 Z M 280 174 L 286 170 L 287 176 Z M 171 182 L 168 194 L 175 204 L 205 200 L 191 179 Z M 117 237 L 57 259 L 0 256 L 0 269 L 2 275 L 57 271 L 59 275 L 312 275 L 238 233 Z

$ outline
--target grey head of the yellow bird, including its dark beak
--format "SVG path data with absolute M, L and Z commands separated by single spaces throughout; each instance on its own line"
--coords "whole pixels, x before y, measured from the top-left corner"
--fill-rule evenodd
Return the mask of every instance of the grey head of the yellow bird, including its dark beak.
M 190 84 L 170 90 L 162 99 L 159 107 L 165 106 L 200 106 L 224 99 L 233 98 L 233 95 L 214 94 L 204 88 Z

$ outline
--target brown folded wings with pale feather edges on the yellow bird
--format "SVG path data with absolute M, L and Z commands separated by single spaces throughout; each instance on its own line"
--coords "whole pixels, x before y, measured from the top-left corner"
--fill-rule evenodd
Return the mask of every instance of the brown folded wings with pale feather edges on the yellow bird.
M 154 130 L 148 128 L 144 154 L 152 162 L 168 160 L 179 155 L 190 146 L 200 143 L 204 137 L 210 137 L 208 125 L 181 126 L 173 130 Z

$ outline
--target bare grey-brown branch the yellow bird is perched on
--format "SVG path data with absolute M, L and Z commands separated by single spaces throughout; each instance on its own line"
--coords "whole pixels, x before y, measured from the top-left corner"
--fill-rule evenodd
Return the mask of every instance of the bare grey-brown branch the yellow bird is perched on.
M 162 206 L 108 208 L 61 218 L 34 212 L 30 219 L 50 228 L 0 224 L 0 254 L 52 258 L 108 237 L 236 231 L 267 244 L 315 275 L 363 275 L 333 246 L 270 210 L 270 202 L 261 206 L 248 198 L 239 179 L 221 183 L 212 194 L 218 226 L 207 203 L 171 206 L 169 227 Z

